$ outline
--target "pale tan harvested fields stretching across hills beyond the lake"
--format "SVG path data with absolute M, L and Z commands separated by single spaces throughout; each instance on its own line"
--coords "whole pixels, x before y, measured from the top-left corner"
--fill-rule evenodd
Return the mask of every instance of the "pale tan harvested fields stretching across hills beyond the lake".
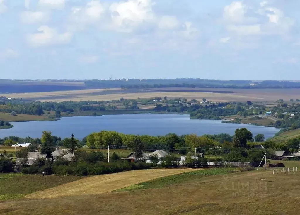
M 187 98 L 211 101 L 276 101 L 282 98 L 289 101 L 300 98 L 300 89 L 217 89 L 217 88 L 151 88 L 140 89 L 88 89 L 56 92 L 13 93 L 3 96 L 39 101 L 87 101 L 118 100 L 123 98 Z

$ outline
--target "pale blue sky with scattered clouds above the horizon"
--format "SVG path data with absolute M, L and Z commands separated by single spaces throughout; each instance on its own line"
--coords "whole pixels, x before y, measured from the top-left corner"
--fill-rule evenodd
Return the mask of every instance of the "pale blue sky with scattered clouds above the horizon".
M 0 0 L 0 79 L 300 80 L 298 0 Z

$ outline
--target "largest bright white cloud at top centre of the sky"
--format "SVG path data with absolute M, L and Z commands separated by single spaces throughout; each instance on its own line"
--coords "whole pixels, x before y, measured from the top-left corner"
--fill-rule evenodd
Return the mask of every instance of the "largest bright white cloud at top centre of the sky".
M 110 5 L 113 28 L 120 31 L 132 31 L 145 21 L 152 21 L 155 15 L 151 0 L 128 0 Z

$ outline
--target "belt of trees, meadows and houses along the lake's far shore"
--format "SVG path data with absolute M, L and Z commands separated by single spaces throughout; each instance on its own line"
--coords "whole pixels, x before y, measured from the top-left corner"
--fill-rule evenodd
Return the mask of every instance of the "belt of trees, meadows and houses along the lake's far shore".
M 189 114 L 190 119 L 223 120 L 222 123 L 251 124 L 294 130 L 300 128 L 300 103 L 279 99 L 259 102 L 213 102 L 186 98 L 120 98 L 113 101 L 23 101 L 0 97 L 0 120 L 5 122 L 52 121 L 61 117 L 108 114 Z M 299 99 L 296 99 L 299 101 Z M 0 124 L 1 126 L 1 124 Z M 3 125 L 2 125 L 3 126 Z M 3 126 L 9 129 L 12 126 Z

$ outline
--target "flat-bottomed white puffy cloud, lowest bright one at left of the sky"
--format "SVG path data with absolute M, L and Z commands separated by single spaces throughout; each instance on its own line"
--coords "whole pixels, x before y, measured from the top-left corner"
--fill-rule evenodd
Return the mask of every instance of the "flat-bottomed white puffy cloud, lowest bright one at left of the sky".
M 59 34 L 56 29 L 48 26 L 41 26 L 38 31 L 41 33 L 27 35 L 28 43 L 34 47 L 65 44 L 69 43 L 72 39 L 72 34 L 70 32 Z

